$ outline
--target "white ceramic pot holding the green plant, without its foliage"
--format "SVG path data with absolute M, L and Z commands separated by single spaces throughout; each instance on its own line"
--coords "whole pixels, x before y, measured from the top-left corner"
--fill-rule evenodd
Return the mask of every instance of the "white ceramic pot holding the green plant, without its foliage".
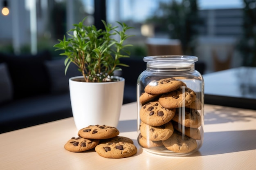
M 124 97 L 124 78 L 116 82 L 87 83 L 69 79 L 72 113 L 76 128 L 89 125 L 117 127 Z

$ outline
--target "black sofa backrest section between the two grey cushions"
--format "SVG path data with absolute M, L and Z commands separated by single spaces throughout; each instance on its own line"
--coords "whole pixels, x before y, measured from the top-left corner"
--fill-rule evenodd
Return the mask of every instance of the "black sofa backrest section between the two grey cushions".
M 15 99 L 49 93 L 49 78 L 44 65 L 50 60 L 48 51 L 37 55 L 0 53 L 0 62 L 7 63 Z

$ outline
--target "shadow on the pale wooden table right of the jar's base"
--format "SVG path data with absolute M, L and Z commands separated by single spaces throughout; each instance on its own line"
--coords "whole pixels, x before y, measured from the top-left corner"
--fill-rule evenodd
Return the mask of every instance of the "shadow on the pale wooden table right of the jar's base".
M 256 130 L 205 132 L 204 143 L 191 157 L 218 155 L 256 149 Z

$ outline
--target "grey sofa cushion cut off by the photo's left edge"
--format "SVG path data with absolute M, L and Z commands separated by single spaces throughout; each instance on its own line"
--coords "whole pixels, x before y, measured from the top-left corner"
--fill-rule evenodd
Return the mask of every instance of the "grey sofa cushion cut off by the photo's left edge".
M 0 104 L 8 102 L 13 97 L 11 78 L 6 63 L 0 63 Z

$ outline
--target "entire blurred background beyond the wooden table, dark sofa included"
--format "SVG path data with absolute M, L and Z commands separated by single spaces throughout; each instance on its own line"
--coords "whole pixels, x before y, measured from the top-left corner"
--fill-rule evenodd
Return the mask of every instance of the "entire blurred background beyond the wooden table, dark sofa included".
M 68 79 L 81 73 L 65 75 L 53 46 L 85 17 L 134 27 L 123 104 L 137 99 L 143 57 L 195 55 L 206 104 L 256 109 L 256 0 L 0 0 L 0 12 L 0 133 L 72 116 Z

